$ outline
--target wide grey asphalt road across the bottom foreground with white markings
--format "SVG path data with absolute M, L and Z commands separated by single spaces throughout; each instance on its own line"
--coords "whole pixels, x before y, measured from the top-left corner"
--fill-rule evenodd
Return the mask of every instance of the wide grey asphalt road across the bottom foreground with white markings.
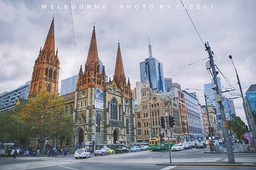
M 188 149 L 171 152 L 172 163 L 184 162 L 223 162 L 227 161 L 225 153 L 203 153 L 209 150 Z M 246 160 L 256 163 L 256 153 L 234 153 L 235 160 Z M 26 157 L 18 156 L 0 158 L 0 170 L 220 170 L 220 167 L 188 167 L 188 166 L 158 166 L 158 163 L 169 163 L 168 152 L 129 152 L 94 156 L 87 159 L 75 159 L 73 154 L 58 157 Z M 221 167 L 224 170 L 233 170 L 232 167 Z M 236 170 L 244 170 L 244 167 L 236 167 Z M 246 168 L 255 169 L 255 168 Z

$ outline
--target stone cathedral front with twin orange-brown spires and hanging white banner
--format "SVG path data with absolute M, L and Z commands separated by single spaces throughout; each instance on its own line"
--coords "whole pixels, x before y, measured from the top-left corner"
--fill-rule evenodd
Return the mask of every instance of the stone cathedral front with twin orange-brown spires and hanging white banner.
M 80 67 L 76 91 L 64 96 L 66 113 L 74 118 L 73 142 L 97 144 L 135 142 L 133 99 L 125 75 L 118 43 L 113 80 L 106 82 L 105 67 L 100 72 L 95 26 L 85 66 Z M 96 122 L 96 126 L 95 126 Z

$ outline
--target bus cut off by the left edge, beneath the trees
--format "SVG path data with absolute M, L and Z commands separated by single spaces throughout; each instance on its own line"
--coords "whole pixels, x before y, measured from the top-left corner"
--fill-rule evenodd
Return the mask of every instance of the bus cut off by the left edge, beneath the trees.
M 3 143 L 3 145 L 0 145 L 0 156 L 12 156 L 15 149 L 17 154 L 19 154 L 20 143 L 18 141 Z

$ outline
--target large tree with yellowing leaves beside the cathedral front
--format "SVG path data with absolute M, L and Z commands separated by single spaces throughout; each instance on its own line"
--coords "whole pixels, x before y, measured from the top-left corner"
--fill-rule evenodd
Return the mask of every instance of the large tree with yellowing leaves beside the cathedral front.
M 61 131 L 62 129 L 66 130 L 65 134 L 72 133 L 71 120 L 66 118 L 68 116 L 65 115 L 64 102 L 64 98 L 58 95 L 52 97 L 50 93 L 42 90 L 36 97 L 29 98 L 29 104 L 24 108 L 23 119 L 31 120 L 32 136 L 39 138 L 39 143 L 43 143 L 43 150 L 45 149 L 44 142 L 46 140 L 56 137 L 57 133 L 59 133 L 59 136 L 63 135 L 64 131 Z

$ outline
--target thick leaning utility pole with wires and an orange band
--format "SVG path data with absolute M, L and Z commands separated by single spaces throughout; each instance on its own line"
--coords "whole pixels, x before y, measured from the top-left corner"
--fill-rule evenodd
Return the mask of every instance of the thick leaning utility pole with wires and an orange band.
M 231 146 L 231 141 L 230 141 L 229 133 L 228 133 L 227 121 L 226 121 L 226 117 L 225 117 L 225 113 L 224 113 L 224 106 L 222 104 L 223 97 L 221 96 L 220 89 L 218 87 L 218 80 L 217 80 L 218 73 L 216 72 L 216 69 L 215 69 L 212 50 L 211 50 L 208 42 L 207 42 L 207 44 L 205 43 L 205 48 L 209 54 L 210 65 L 211 65 L 213 76 L 214 76 L 215 86 L 213 87 L 213 90 L 216 91 L 217 95 L 215 95 L 215 100 L 219 103 L 219 107 L 220 107 L 220 111 L 221 111 L 221 117 L 222 117 L 222 122 L 223 122 L 222 129 L 223 129 L 223 136 L 224 136 L 224 140 L 225 140 L 225 144 L 226 144 L 226 152 L 227 152 L 228 162 L 235 163 L 234 154 L 233 154 L 233 150 L 232 150 L 232 146 Z

